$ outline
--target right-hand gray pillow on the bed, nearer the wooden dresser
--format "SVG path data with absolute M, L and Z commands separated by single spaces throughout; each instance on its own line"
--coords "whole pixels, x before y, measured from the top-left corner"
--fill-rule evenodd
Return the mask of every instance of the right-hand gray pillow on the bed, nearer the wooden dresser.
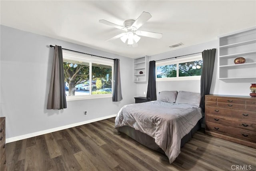
M 176 99 L 176 103 L 186 103 L 196 106 L 200 106 L 201 95 L 200 93 L 194 93 L 190 91 L 179 91 Z

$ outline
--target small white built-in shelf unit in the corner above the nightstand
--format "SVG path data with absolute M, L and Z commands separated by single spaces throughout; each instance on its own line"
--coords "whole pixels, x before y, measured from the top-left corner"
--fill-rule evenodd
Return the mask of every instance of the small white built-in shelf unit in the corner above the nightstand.
M 133 82 L 147 82 L 148 79 L 148 56 L 134 58 L 133 60 Z M 143 74 L 140 74 L 140 72 Z

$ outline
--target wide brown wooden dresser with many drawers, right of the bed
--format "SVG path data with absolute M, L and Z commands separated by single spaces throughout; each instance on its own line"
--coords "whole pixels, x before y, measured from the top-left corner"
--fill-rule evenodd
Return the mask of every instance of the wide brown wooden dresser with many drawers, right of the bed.
M 205 133 L 256 148 L 256 98 L 205 95 Z

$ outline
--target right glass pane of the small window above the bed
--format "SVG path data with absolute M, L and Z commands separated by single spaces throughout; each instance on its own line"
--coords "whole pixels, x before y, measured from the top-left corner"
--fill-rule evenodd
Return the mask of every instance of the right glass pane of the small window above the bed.
M 184 62 L 179 64 L 179 77 L 201 76 L 203 61 Z

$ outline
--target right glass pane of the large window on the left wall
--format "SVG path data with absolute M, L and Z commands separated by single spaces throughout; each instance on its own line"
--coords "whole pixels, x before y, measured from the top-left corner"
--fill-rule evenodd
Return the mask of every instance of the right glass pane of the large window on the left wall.
M 112 66 L 92 63 L 92 94 L 112 93 Z

